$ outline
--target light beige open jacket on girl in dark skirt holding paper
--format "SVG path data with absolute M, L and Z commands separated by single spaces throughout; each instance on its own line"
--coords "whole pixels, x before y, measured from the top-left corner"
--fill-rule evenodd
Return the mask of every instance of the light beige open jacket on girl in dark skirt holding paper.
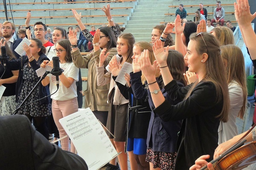
M 120 93 L 114 79 L 112 78 L 112 74 L 109 72 L 104 74 L 104 67 L 105 67 L 105 65 L 103 65 L 102 67 L 99 67 L 98 64 L 96 65 L 97 85 L 103 86 L 105 84 L 110 83 L 109 93 L 108 93 L 108 103 L 110 104 L 111 92 L 114 89 L 115 89 L 115 94 L 114 94 L 114 99 L 113 99 L 114 105 L 121 105 L 121 104 L 129 103 L 129 100 L 125 99 L 125 97 Z

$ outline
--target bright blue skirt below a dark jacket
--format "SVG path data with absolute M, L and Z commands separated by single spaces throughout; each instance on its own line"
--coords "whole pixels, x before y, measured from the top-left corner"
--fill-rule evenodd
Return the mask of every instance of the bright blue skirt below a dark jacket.
M 145 155 L 147 153 L 147 139 L 128 138 L 127 151 L 133 151 L 136 155 Z

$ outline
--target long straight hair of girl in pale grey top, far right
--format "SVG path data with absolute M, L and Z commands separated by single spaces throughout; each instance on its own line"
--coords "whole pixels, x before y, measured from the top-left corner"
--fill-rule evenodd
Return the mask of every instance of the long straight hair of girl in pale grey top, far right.
M 236 81 L 242 88 L 243 106 L 239 111 L 239 117 L 243 119 L 246 104 L 247 104 L 247 87 L 246 74 L 244 66 L 244 56 L 239 47 L 235 45 L 221 46 L 221 56 L 223 62 L 227 62 L 226 79 L 227 84 Z M 225 61 L 226 60 L 226 61 Z

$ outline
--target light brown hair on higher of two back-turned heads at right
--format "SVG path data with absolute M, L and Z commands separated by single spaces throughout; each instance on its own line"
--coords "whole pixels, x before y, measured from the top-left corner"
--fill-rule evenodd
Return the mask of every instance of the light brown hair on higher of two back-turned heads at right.
M 234 44 L 234 35 L 230 28 L 215 27 L 212 31 L 215 32 L 216 38 L 221 43 L 221 46 Z

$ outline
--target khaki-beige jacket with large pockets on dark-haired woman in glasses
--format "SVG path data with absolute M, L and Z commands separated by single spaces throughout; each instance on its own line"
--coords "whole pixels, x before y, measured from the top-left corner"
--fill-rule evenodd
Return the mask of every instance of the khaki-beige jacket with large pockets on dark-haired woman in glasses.
M 107 100 L 110 84 L 106 84 L 104 86 L 97 85 L 96 65 L 100 61 L 100 52 L 101 50 L 96 52 L 93 51 L 85 56 L 82 56 L 79 50 L 71 52 L 73 63 L 77 68 L 88 68 L 87 90 L 84 91 L 84 96 L 85 108 L 89 107 L 91 111 L 109 110 Z M 108 65 L 111 58 L 117 54 L 116 48 L 111 48 L 107 52 L 110 54 L 108 55 L 107 60 L 104 62 L 105 66 Z M 106 71 L 104 70 L 104 72 Z

